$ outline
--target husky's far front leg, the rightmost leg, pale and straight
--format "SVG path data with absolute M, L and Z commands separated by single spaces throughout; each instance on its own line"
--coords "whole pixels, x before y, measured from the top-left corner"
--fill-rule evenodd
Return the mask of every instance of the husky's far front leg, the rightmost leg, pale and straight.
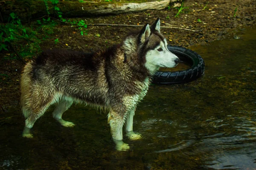
M 135 114 L 135 108 L 132 108 L 130 113 L 126 117 L 125 131 L 126 131 L 126 136 L 128 136 L 129 139 L 138 140 L 138 139 L 141 139 L 142 135 L 140 133 L 135 133 L 133 131 L 134 114 Z

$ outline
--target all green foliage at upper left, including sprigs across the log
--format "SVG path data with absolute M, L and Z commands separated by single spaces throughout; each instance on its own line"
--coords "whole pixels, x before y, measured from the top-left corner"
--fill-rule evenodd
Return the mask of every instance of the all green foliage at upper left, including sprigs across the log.
M 87 35 L 87 24 L 84 20 L 66 20 L 62 17 L 62 12 L 58 8 L 58 0 L 43 0 L 46 6 L 47 16 L 32 22 L 29 26 L 24 26 L 15 13 L 11 13 L 8 23 L 0 25 L 0 51 L 14 51 L 6 55 L 6 59 L 18 57 L 32 57 L 41 52 L 40 44 L 43 40 L 52 37 L 55 25 L 52 20 L 60 20 L 63 23 L 76 25 L 81 31 L 81 35 Z M 49 2 L 53 7 L 49 7 Z M 54 13 L 50 13 L 50 11 Z M 57 44 L 59 39 L 53 39 Z

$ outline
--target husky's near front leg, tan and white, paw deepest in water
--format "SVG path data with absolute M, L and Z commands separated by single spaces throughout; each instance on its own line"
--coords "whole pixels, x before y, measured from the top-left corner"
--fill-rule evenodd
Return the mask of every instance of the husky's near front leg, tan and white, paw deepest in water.
M 128 144 L 122 142 L 122 127 L 125 122 L 125 115 L 116 113 L 115 111 L 110 111 L 108 113 L 108 123 L 110 124 L 111 128 L 111 135 L 113 141 L 116 144 L 117 150 L 128 150 L 130 147 Z

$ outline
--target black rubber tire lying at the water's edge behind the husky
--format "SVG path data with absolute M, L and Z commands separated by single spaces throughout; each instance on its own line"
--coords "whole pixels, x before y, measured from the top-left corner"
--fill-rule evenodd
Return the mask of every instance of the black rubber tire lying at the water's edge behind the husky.
M 204 74 L 204 59 L 194 51 L 184 47 L 167 45 L 169 51 L 179 57 L 180 62 L 190 65 L 191 68 L 183 71 L 158 71 L 153 77 L 153 84 L 175 84 L 191 82 Z

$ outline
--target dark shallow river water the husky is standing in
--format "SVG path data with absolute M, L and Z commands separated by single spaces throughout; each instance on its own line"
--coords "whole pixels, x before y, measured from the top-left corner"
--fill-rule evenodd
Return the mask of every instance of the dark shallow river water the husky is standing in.
M 21 136 L 15 108 L 0 116 L 0 170 L 255 170 L 256 29 L 236 34 L 191 47 L 204 58 L 204 77 L 151 85 L 134 117 L 143 139 L 124 139 L 131 150 L 115 150 L 106 114 L 93 108 L 66 111 L 73 128 L 58 125 L 51 108 L 33 139 Z

